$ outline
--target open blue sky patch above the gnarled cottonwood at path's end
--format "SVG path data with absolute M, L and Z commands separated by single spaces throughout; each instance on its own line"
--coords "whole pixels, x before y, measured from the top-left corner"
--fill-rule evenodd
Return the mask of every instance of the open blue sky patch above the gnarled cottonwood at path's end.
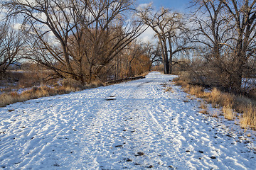
M 160 8 L 161 6 L 170 8 L 174 11 L 186 12 L 190 0 L 137 0 L 137 4 L 149 4 L 153 2 L 153 6 Z

